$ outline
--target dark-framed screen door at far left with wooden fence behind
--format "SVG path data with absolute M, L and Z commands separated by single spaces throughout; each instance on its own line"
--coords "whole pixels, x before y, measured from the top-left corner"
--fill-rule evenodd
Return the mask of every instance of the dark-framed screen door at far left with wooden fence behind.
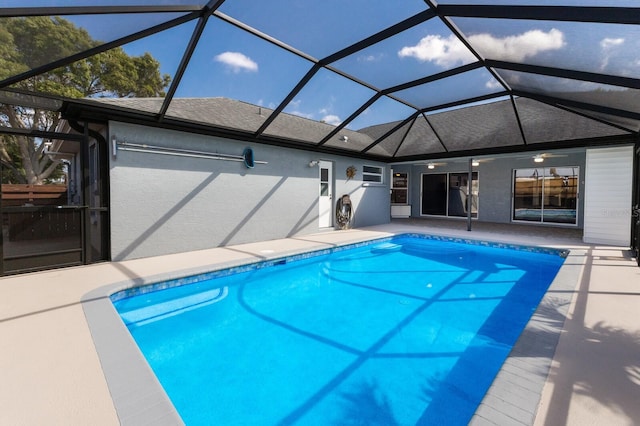
M 45 143 L 38 138 L 28 142 L 33 146 Z M 50 174 L 29 180 L 19 172 L 26 162 L 23 156 L 2 165 L 3 274 L 85 261 L 81 165 L 74 161 L 80 157 L 82 142 L 56 139 L 46 143 L 47 154 L 40 161 L 55 168 Z

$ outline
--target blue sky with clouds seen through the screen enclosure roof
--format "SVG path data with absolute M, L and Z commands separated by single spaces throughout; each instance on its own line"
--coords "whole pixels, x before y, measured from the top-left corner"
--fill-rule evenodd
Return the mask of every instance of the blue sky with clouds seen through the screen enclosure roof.
M 632 0 L 498 1 L 503 4 L 634 5 Z M 176 2 L 172 2 L 176 3 Z M 470 3 L 469 0 L 440 0 Z M 496 1 L 476 1 L 495 4 Z M 220 11 L 270 37 L 321 59 L 426 8 L 422 0 L 377 2 L 366 0 L 227 0 Z M 73 21 L 94 38 L 121 36 L 141 23 L 161 22 L 175 15 L 116 17 L 105 25 L 104 16 Z M 101 25 L 89 21 L 100 19 Z M 84 19 L 84 20 L 83 20 Z M 481 55 L 490 59 L 558 66 L 614 75 L 639 77 L 640 33 L 631 25 L 575 24 L 524 20 L 456 19 L 455 24 Z M 133 55 L 146 51 L 173 77 L 194 22 L 181 25 L 130 45 Z M 442 24 L 431 19 L 395 37 L 332 64 L 335 68 L 384 89 L 474 62 L 475 57 Z M 275 108 L 311 69 L 313 63 L 268 41 L 212 17 L 205 28 L 177 97 L 222 96 Z M 512 74 L 513 75 L 513 74 Z M 524 78 L 526 76 L 519 76 Z M 561 87 L 566 82 L 554 82 Z M 568 90 L 593 89 L 582 83 Z M 499 83 L 486 70 L 397 93 L 407 102 L 430 107 L 468 97 L 498 93 Z M 339 124 L 364 104 L 373 91 L 336 73 L 322 70 L 286 107 L 285 111 L 314 120 Z M 406 118 L 413 110 L 383 98 L 349 125 L 358 129 Z

